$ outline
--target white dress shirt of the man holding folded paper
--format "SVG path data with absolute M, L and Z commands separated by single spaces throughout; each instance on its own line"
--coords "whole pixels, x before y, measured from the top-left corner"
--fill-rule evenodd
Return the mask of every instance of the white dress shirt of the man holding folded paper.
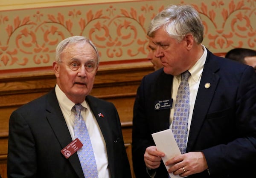
M 188 133 L 191 125 L 191 120 L 192 120 L 192 114 L 195 106 L 195 99 L 196 95 L 198 93 L 198 88 L 199 84 L 201 81 L 202 77 L 202 72 L 204 69 L 204 63 L 206 61 L 207 57 L 207 49 L 205 46 L 202 45 L 202 48 L 204 49 L 203 55 L 199 58 L 199 60 L 195 63 L 194 66 L 192 66 L 189 69 L 189 72 L 191 76 L 189 77 L 189 120 L 188 120 Z M 173 121 L 173 115 L 174 115 L 174 106 L 176 102 L 176 96 L 177 96 L 177 91 L 179 88 L 181 82 L 181 75 L 174 76 L 173 81 L 172 81 L 172 92 L 171 92 L 171 97 L 173 98 L 173 104 L 170 112 L 170 129 L 172 129 L 172 121 Z M 187 141 L 188 141 L 189 134 L 187 134 Z

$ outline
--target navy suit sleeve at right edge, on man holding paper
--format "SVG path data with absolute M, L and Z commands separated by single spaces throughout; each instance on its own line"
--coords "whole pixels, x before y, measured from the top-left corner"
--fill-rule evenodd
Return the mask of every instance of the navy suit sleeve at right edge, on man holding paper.
M 239 81 L 234 123 L 232 123 L 235 125 L 232 132 L 233 140 L 227 144 L 219 144 L 203 150 L 211 175 L 254 169 L 252 167 L 255 165 L 256 158 L 256 75 L 254 70 L 247 67 Z

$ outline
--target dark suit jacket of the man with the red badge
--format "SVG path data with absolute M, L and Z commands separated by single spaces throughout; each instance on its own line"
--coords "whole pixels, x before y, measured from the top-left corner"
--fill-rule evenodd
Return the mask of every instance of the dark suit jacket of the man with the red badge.
M 111 178 L 131 178 L 115 106 L 92 96 L 86 100 L 106 142 Z M 61 154 L 71 141 L 54 89 L 21 106 L 9 121 L 9 178 L 84 178 L 77 153 L 68 159 Z

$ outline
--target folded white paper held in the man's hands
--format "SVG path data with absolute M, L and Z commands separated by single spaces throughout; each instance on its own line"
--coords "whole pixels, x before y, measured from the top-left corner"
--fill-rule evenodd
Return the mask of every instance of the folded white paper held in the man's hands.
M 165 156 L 162 157 L 164 163 L 177 155 L 181 155 L 171 129 L 156 132 L 151 135 L 157 146 L 157 150 L 165 154 Z M 166 166 L 166 169 L 168 170 L 170 166 Z M 169 175 L 171 178 L 183 178 L 179 175 L 174 175 L 173 173 L 170 173 Z

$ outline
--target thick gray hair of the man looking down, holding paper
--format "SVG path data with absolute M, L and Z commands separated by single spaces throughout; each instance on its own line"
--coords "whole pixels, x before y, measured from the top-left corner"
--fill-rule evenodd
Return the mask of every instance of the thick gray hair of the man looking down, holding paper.
M 171 37 L 180 42 L 187 34 L 192 34 L 195 42 L 200 44 L 204 39 L 204 26 L 196 11 L 190 5 L 171 5 L 158 13 L 148 28 L 148 36 L 163 26 Z

